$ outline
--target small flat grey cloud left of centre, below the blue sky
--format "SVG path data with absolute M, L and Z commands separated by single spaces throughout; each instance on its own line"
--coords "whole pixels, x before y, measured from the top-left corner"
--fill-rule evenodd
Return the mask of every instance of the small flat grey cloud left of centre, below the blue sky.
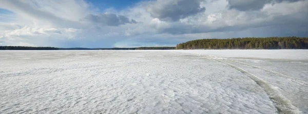
M 136 20 L 129 20 L 123 15 L 116 15 L 112 13 L 102 13 L 98 15 L 90 14 L 85 17 L 85 19 L 93 22 L 94 24 L 99 24 L 102 26 L 119 26 L 124 24 L 136 24 Z

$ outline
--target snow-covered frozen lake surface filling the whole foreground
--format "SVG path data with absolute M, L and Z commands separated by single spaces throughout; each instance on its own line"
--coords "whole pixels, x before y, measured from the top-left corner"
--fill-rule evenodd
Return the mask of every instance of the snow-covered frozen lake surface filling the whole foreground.
M 0 113 L 308 113 L 308 50 L 0 51 Z

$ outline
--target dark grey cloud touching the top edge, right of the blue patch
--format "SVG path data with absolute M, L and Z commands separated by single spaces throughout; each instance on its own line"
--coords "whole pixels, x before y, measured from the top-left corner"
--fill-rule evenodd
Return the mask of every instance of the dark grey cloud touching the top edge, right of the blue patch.
M 177 21 L 190 15 L 205 11 L 200 7 L 200 0 L 158 0 L 151 4 L 147 11 L 154 18 L 165 21 Z

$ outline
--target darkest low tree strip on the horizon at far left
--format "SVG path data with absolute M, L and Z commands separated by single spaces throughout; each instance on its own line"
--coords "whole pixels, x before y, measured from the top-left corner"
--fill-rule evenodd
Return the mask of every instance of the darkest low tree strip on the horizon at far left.
M 59 50 L 59 48 L 54 48 L 54 47 L 0 46 L 0 50 Z

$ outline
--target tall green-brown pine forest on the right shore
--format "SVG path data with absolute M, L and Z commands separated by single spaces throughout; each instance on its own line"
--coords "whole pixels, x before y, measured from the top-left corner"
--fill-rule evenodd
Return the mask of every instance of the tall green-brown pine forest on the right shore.
M 307 37 L 246 37 L 198 39 L 177 44 L 176 49 L 308 49 Z

